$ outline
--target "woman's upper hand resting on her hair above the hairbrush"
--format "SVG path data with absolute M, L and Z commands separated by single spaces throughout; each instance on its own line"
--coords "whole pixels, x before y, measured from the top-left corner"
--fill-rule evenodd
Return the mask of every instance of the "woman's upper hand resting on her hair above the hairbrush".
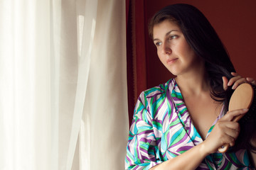
M 228 80 L 227 77 L 223 77 L 223 89 L 228 89 L 228 86 L 232 86 L 232 89 L 236 89 L 240 84 L 243 83 L 249 83 L 256 86 L 255 79 L 252 79 L 251 77 L 241 77 L 238 73 L 231 72 L 233 77 Z

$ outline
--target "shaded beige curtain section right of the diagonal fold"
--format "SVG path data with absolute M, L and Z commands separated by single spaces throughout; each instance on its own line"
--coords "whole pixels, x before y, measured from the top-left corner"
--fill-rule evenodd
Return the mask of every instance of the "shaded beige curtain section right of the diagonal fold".
M 80 144 L 90 146 L 82 147 L 85 149 L 82 151 L 90 157 L 87 164 L 81 160 L 80 164 L 85 169 L 124 169 L 129 129 L 125 21 L 124 1 L 98 0 L 82 118 L 87 131 L 85 134 L 88 135 L 80 135 Z M 90 128 L 87 126 L 88 120 Z

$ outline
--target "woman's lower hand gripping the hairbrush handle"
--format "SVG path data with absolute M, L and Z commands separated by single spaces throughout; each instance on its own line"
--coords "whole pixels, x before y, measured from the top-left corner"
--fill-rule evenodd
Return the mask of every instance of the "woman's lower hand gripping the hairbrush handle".
M 235 140 L 240 132 L 240 125 L 232 120 L 235 116 L 245 114 L 247 111 L 248 109 L 228 111 L 223 118 L 218 120 L 210 135 L 203 142 L 208 154 L 217 152 L 218 148 L 225 144 L 229 144 L 231 147 L 235 145 Z

